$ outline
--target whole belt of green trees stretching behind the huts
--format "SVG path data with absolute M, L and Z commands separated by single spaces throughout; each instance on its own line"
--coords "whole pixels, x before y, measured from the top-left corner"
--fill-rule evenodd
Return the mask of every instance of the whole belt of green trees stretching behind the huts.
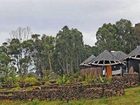
M 30 34 L 29 27 L 11 32 L 12 38 L 0 46 L 0 72 L 4 79 L 24 77 L 31 73 L 44 78 L 48 73 L 73 74 L 90 55 L 103 50 L 129 53 L 140 43 L 140 25 L 121 19 L 105 23 L 96 33 L 95 46 L 85 45 L 83 34 L 76 28 L 64 26 L 55 37 Z M 6 81 L 4 80 L 4 81 Z

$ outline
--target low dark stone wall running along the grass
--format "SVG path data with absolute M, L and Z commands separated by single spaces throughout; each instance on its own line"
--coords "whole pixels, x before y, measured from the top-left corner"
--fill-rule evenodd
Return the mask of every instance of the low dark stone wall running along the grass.
M 19 100 L 73 100 L 94 99 L 101 97 L 121 96 L 124 88 L 139 84 L 138 74 L 124 74 L 123 77 L 113 77 L 111 83 L 102 84 L 70 84 L 47 85 L 34 88 L 31 91 L 0 92 L 0 99 Z

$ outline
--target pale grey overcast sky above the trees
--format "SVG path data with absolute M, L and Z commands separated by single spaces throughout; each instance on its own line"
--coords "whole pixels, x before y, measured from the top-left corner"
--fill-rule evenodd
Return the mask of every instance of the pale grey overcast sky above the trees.
M 55 36 L 65 25 L 83 33 L 84 43 L 94 45 L 104 23 L 121 18 L 140 22 L 140 0 L 0 0 L 0 43 L 18 27 Z

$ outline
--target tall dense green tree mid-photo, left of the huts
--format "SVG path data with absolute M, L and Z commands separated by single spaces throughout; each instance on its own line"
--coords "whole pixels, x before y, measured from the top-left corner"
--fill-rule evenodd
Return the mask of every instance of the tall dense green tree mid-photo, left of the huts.
M 83 54 L 83 35 L 77 29 L 64 26 L 56 36 L 55 56 L 61 73 L 73 73 L 79 69 Z

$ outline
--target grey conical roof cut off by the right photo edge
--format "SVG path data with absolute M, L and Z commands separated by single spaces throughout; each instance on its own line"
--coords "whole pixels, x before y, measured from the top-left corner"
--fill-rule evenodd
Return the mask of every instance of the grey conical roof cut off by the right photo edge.
M 140 46 L 131 51 L 127 58 L 140 59 Z

